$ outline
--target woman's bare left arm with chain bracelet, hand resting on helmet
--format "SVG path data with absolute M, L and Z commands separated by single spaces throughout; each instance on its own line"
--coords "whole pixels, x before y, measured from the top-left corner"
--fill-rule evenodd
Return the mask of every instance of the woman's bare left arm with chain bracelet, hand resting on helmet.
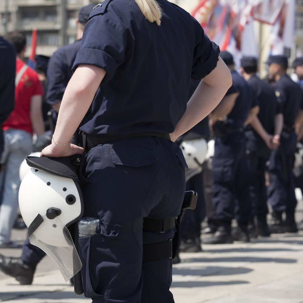
M 71 140 L 78 125 L 91 105 L 95 92 L 105 76 L 105 70 L 94 65 L 78 65 L 68 82 L 62 98 L 53 138 L 58 144 Z M 41 156 L 63 157 L 82 154 L 83 148 L 68 144 L 56 145 L 53 141 L 41 152 Z

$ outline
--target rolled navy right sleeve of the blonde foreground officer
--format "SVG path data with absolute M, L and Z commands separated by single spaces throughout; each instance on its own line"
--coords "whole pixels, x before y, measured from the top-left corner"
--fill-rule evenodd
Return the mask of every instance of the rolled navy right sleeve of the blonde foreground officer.
M 195 51 L 191 77 L 195 80 L 207 76 L 217 66 L 220 48 L 204 34 L 199 22 L 192 17 L 195 26 Z

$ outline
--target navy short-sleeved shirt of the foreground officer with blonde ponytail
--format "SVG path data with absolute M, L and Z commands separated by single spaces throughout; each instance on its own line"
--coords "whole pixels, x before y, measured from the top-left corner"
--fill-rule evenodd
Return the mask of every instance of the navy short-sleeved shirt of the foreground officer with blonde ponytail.
M 171 133 L 186 110 L 191 77 L 217 65 L 219 48 L 185 10 L 159 0 L 161 26 L 132 0 L 106 0 L 85 25 L 79 64 L 103 68 L 80 130 L 93 135 Z

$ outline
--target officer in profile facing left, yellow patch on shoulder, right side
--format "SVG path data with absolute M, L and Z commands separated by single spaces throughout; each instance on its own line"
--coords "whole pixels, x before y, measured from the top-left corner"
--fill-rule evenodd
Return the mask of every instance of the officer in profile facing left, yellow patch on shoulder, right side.
M 297 200 L 292 169 L 297 142 L 294 125 L 302 101 L 302 91 L 300 86 L 286 74 L 288 68 L 286 56 L 270 56 L 266 63 L 269 65 L 269 79 L 275 81 L 275 94 L 284 116 L 281 145 L 270 156 L 269 173 L 271 183 L 268 188 L 268 200 L 272 207 L 270 229 L 272 233 L 297 232 L 295 222 Z M 286 214 L 284 225 L 282 221 L 283 212 Z

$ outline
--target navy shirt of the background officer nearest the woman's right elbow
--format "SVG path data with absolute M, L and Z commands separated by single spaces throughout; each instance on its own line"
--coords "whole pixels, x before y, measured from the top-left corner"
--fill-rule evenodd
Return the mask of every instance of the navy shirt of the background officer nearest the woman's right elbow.
M 242 128 L 251 108 L 258 105 L 255 93 L 249 83 L 247 83 L 237 71 L 231 71 L 232 90 L 228 93 L 237 91 L 239 93 L 235 105 L 227 115 L 228 125 L 232 128 Z

